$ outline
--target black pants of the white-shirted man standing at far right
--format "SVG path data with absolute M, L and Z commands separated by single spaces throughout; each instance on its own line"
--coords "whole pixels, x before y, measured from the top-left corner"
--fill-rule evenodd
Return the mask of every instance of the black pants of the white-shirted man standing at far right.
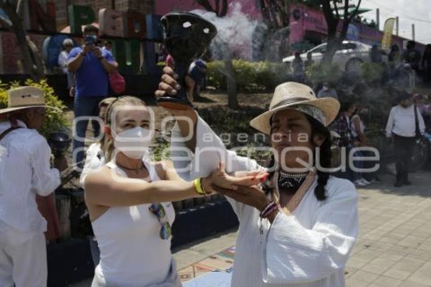
M 393 144 L 395 148 L 397 182 L 405 182 L 409 179 L 409 165 L 412 159 L 415 137 L 404 137 L 394 134 Z

